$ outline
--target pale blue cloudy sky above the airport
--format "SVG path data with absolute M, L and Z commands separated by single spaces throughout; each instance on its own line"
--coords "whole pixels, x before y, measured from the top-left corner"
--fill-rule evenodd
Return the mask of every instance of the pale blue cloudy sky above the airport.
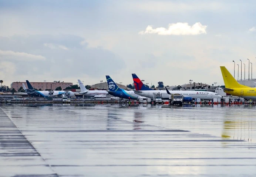
M 0 0 L 0 79 L 9 86 L 77 79 L 92 85 L 110 75 L 127 85 L 135 73 L 155 86 L 224 85 L 220 66 L 233 75 L 235 65 L 237 79 L 240 60 L 242 78 L 249 60 L 256 78 L 255 6 L 252 0 Z

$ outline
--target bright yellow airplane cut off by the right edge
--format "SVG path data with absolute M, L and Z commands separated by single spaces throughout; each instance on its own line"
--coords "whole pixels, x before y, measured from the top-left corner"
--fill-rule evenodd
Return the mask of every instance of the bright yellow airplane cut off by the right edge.
M 222 88 L 224 92 L 247 99 L 256 99 L 256 88 L 239 84 L 225 66 L 221 66 L 220 70 L 225 83 L 225 88 Z

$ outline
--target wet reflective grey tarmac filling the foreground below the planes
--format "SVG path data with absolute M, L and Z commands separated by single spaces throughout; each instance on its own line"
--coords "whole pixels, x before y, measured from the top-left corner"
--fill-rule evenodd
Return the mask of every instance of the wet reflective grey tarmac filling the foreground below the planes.
M 254 177 L 255 110 L 0 105 L 0 177 Z

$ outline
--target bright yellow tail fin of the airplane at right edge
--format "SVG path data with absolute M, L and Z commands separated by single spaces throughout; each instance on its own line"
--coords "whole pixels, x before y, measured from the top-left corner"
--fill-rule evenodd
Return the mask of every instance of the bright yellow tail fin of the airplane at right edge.
M 226 69 L 225 66 L 220 67 L 222 77 L 224 80 L 225 88 L 245 88 L 249 86 L 245 86 L 239 84 L 238 81 L 230 74 L 230 72 Z

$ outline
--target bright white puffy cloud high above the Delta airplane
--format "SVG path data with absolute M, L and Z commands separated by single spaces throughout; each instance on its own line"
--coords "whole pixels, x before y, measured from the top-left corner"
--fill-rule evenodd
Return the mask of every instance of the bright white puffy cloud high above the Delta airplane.
M 145 31 L 139 32 L 139 34 L 154 34 L 158 35 L 199 35 L 206 34 L 206 25 L 202 25 L 200 22 L 193 24 L 193 26 L 189 26 L 188 23 L 178 22 L 176 24 L 169 24 L 168 28 L 159 27 L 153 29 L 152 26 L 148 25 Z

